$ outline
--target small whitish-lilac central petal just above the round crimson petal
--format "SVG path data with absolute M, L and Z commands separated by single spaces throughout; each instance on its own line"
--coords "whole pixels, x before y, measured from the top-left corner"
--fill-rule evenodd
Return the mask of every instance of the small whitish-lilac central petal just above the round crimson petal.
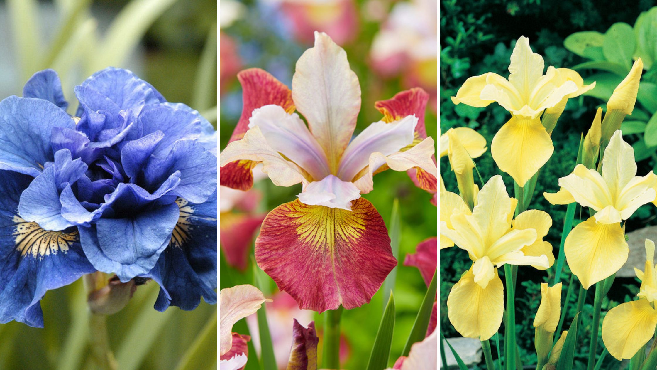
M 297 197 L 307 205 L 323 205 L 351 211 L 351 201 L 361 198 L 361 192 L 353 183 L 342 181 L 329 174 L 321 181 L 307 184 Z

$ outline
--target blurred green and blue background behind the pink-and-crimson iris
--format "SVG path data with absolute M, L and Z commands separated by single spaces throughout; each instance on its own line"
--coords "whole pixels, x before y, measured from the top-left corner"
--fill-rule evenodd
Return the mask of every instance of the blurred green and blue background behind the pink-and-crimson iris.
M 411 3 L 411 2 L 401 2 Z M 235 53 L 240 59 L 240 68 L 233 70 L 232 74 L 222 80 L 220 98 L 220 147 L 223 149 L 237 124 L 242 108 L 242 95 L 239 83 L 235 78 L 238 70 L 250 67 L 259 67 L 267 70 L 288 87 L 291 86 L 294 64 L 300 55 L 312 43 L 298 41 L 289 28 L 286 14 L 277 3 L 244 1 L 239 3 L 238 16 L 229 23 L 229 26 L 221 26 L 221 40 L 229 36 L 235 43 Z M 395 93 L 405 90 L 403 76 L 396 75 L 382 78 L 374 72 L 369 64 L 369 53 L 374 36 L 382 28 L 382 22 L 394 7 L 392 1 L 365 1 L 359 0 L 353 3 L 357 13 L 358 30 L 353 40 L 342 43 L 347 53 L 351 69 L 357 74 L 362 90 L 361 112 L 357 120 L 355 134 L 367 127 L 372 122 L 382 118 L 382 115 L 374 108 L 374 101 L 389 99 Z M 221 5 L 221 10 L 223 11 Z M 232 6 L 232 5 L 231 5 Z M 382 9 L 382 16 L 373 19 L 368 9 Z M 223 15 L 222 15 L 223 18 Z M 330 32 L 328 32 L 330 35 Z M 312 40 L 312 38 L 310 38 Z M 223 49 L 223 43 L 221 48 Z M 233 53 L 220 55 L 221 63 L 226 59 L 234 57 Z M 223 70 L 224 67 L 221 66 Z M 223 72 L 222 72 L 223 74 Z M 436 112 L 430 107 L 426 110 L 426 130 L 437 144 L 437 120 Z M 274 186 L 269 179 L 261 180 L 256 188 L 263 192 L 263 211 L 271 211 L 275 207 L 292 201 L 296 194 L 301 192 L 301 186 L 290 188 Z M 405 172 L 384 171 L 374 178 L 374 190 L 365 194 L 363 198 L 371 201 L 383 217 L 390 230 L 390 218 L 394 199 L 399 199 L 399 218 L 401 220 L 401 238 L 399 264 L 396 267 L 397 276 L 394 284 L 394 297 L 396 304 L 396 323 L 390 354 L 390 367 L 397 357 L 400 356 L 405 341 L 411 332 L 411 326 L 415 315 L 420 307 L 422 298 L 426 292 L 426 285 L 417 268 L 402 265 L 407 253 L 415 253 L 415 247 L 419 242 L 437 234 L 437 210 L 430 203 L 431 195 L 417 188 Z M 251 245 L 250 255 L 253 255 Z M 244 273 L 229 267 L 223 251 L 221 253 L 221 271 L 219 284 L 221 288 L 227 288 L 237 284 L 254 284 L 254 273 L 250 265 Z M 258 270 L 258 278 L 264 281 L 265 296 L 271 297 L 277 291 L 276 285 L 262 271 Z M 271 304 L 267 304 L 269 310 Z M 369 354 L 374 344 L 374 337 L 380 323 L 384 309 L 382 289 L 374 295 L 369 304 L 342 313 L 342 332 L 346 339 L 350 355 L 341 363 L 341 369 L 365 369 Z M 315 325 L 321 333 L 323 326 L 323 315 L 315 313 Z M 271 319 L 270 319 L 271 320 Z M 290 333 L 292 321 L 285 323 Z M 271 326 L 271 325 L 270 325 Z M 233 331 L 246 334 L 246 325 L 240 321 Z M 290 342 L 291 345 L 291 342 Z M 319 352 L 321 352 L 322 340 L 320 334 Z M 288 352 L 289 353 L 289 352 Z M 250 354 L 251 355 L 251 354 Z M 319 355 L 321 357 L 321 354 Z M 320 358 L 321 361 L 321 358 Z M 249 369 L 250 365 L 247 365 Z M 257 369 L 258 367 L 254 367 Z

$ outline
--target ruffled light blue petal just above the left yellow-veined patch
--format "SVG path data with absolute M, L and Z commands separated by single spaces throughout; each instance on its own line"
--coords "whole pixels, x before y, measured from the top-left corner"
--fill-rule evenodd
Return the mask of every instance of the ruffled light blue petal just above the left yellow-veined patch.
M 18 212 L 26 221 L 35 222 L 45 230 L 64 230 L 75 223 L 62 217 L 60 193 L 74 184 L 87 171 L 81 159 L 73 160 L 68 149 L 55 153 L 55 163 L 37 176 L 21 194 Z

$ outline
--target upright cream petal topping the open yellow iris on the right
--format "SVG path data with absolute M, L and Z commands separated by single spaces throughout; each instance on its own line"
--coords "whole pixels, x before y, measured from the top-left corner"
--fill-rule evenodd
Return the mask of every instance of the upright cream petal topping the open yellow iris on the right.
M 602 157 L 602 178 L 607 183 L 612 197 L 616 198 L 629 180 L 636 175 L 634 149 L 623 140 L 622 132 L 617 130 L 609 140 Z

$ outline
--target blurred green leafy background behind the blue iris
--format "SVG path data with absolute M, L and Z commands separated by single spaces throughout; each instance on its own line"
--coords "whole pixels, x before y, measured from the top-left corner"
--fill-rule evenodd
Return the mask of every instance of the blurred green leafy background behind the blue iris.
M 133 70 L 168 101 L 216 121 L 215 0 L 0 1 L 0 97 L 22 95 L 37 70 L 53 68 L 74 113 L 73 87 L 106 66 Z M 108 317 L 119 369 L 215 369 L 217 307 L 194 311 L 153 304 L 154 282 L 139 286 Z M 0 325 L 0 369 L 97 369 L 89 356 L 81 280 L 49 291 L 41 302 L 44 329 Z

